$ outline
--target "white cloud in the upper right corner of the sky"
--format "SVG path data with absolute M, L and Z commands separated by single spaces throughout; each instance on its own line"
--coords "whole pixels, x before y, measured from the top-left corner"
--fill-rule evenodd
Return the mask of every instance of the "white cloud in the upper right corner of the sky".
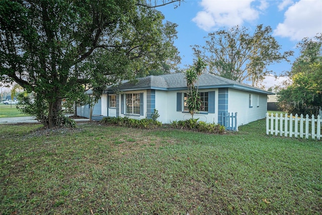
M 284 22 L 279 23 L 274 30 L 274 36 L 299 41 L 322 33 L 321 0 L 300 0 L 287 9 L 284 17 Z

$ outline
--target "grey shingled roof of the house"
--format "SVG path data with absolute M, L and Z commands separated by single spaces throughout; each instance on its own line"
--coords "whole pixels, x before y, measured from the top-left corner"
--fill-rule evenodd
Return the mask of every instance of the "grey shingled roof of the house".
M 230 88 L 249 92 L 263 93 L 273 95 L 274 93 L 252 87 L 247 84 L 239 83 L 225 79 L 212 74 L 202 74 L 199 77 L 199 89 L 211 88 Z M 133 90 L 186 90 L 187 81 L 184 73 L 173 73 L 162 76 L 147 76 L 136 79 L 135 81 L 126 81 L 118 86 L 109 87 L 108 92 L 115 91 L 133 91 Z

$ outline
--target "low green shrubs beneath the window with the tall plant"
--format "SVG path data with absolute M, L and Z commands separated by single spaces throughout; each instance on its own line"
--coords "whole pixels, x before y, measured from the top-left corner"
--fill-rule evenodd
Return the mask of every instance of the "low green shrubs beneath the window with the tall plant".
M 171 122 L 171 126 L 174 128 L 185 128 L 190 130 L 197 130 L 205 133 L 218 133 L 222 134 L 225 131 L 225 126 L 217 123 L 207 123 L 204 121 L 199 121 L 198 119 L 187 119 L 187 120 L 175 120 Z

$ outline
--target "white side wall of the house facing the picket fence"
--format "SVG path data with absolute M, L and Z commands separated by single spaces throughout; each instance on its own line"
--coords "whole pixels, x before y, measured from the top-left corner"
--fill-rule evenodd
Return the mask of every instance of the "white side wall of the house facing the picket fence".
M 228 112 L 237 112 L 237 124 L 244 125 L 265 118 L 267 113 L 267 95 L 228 89 Z M 252 105 L 249 105 L 250 95 Z

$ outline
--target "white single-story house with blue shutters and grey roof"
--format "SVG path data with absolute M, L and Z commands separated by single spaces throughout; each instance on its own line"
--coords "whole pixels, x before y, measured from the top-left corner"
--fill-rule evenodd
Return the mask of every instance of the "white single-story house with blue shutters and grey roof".
M 265 118 L 267 95 L 273 93 L 218 77 L 202 74 L 198 88 L 203 110 L 194 115 L 205 122 L 222 122 L 222 114 L 237 113 L 237 126 Z M 171 123 L 191 118 L 187 110 L 187 82 L 184 73 L 147 76 L 109 87 L 95 105 L 93 119 L 100 116 L 149 118 L 156 109 L 158 120 Z M 82 109 L 83 108 L 83 109 Z M 77 115 L 84 115 L 86 107 L 77 107 Z

